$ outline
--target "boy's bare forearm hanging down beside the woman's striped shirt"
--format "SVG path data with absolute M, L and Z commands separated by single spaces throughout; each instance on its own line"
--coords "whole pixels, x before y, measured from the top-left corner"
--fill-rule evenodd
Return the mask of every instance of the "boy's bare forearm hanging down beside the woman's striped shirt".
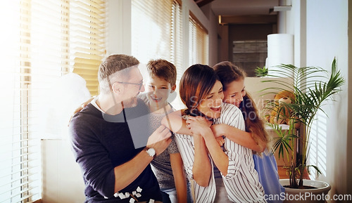
M 175 180 L 177 202 L 187 202 L 187 182 L 180 153 L 170 154 L 170 162 Z

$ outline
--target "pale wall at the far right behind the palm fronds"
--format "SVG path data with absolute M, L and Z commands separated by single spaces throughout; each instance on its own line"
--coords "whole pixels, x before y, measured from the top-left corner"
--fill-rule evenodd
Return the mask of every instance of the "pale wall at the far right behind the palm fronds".
M 334 57 L 337 67 L 348 76 L 348 1 L 307 1 L 307 65 L 329 70 Z M 327 173 L 318 180 L 332 184 L 331 195 L 346 194 L 348 168 L 347 121 L 348 89 L 335 98 L 336 103 L 325 106 L 327 119 Z M 350 189 L 351 194 L 351 189 Z

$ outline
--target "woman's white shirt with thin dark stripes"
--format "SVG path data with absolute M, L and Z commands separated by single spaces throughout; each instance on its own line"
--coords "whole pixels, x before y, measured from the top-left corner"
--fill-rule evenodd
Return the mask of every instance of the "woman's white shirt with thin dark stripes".
M 228 124 L 244 131 L 244 119 L 241 110 L 235 105 L 222 103 L 221 114 L 214 124 Z M 216 185 L 214 174 L 210 177 L 207 187 L 201 187 L 193 180 L 192 168 L 194 164 L 193 136 L 175 134 L 175 140 L 184 162 L 187 177 L 193 182 L 194 202 L 209 203 L 215 201 Z M 265 202 L 264 190 L 258 180 L 258 173 L 254 169 L 253 154 L 249 148 L 225 138 L 224 152 L 229 157 L 227 175 L 222 176 L 227 196 L 232 202 Z M 213 166 L 213 160 L 209 155 Z M 213 167 L 212 167 L 213 168 Z

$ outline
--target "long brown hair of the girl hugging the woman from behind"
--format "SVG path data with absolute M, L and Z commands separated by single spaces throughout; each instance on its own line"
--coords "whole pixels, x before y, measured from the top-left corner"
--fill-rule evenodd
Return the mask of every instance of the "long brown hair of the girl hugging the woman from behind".
M 244 70 L 241 70 L 241 68 L 237 67 L 230 61 L 220 62 L 216 64 L 213 69 L 216 74 L 218 74 L 224 91 L 232 81 L 238 81 L 239 79 L 244 79 L 246 77 Z M 251 98 L 251 95 L 248 92 L 239 105 L 239 109 L 244 116 L 246 131 L 252 134 L 254 140 L 261 139 L 265 141 L 265 143 L 267 143 L 265 147 L 270 148 L 270 146 L 268 146 L 270 140 L 269 134 L 265 130 L 263 119 L 260 119 L 259 117 L 256 103 L 254 103 L 253 98 Z

